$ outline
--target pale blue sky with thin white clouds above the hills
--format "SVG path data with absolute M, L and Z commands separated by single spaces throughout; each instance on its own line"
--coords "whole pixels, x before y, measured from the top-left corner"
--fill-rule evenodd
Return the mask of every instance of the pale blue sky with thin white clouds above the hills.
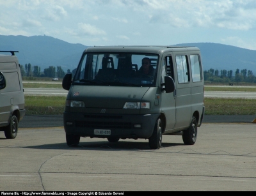
M 256 0 L 0 0 L 0 34 L 93 45 L 256 50 Z

